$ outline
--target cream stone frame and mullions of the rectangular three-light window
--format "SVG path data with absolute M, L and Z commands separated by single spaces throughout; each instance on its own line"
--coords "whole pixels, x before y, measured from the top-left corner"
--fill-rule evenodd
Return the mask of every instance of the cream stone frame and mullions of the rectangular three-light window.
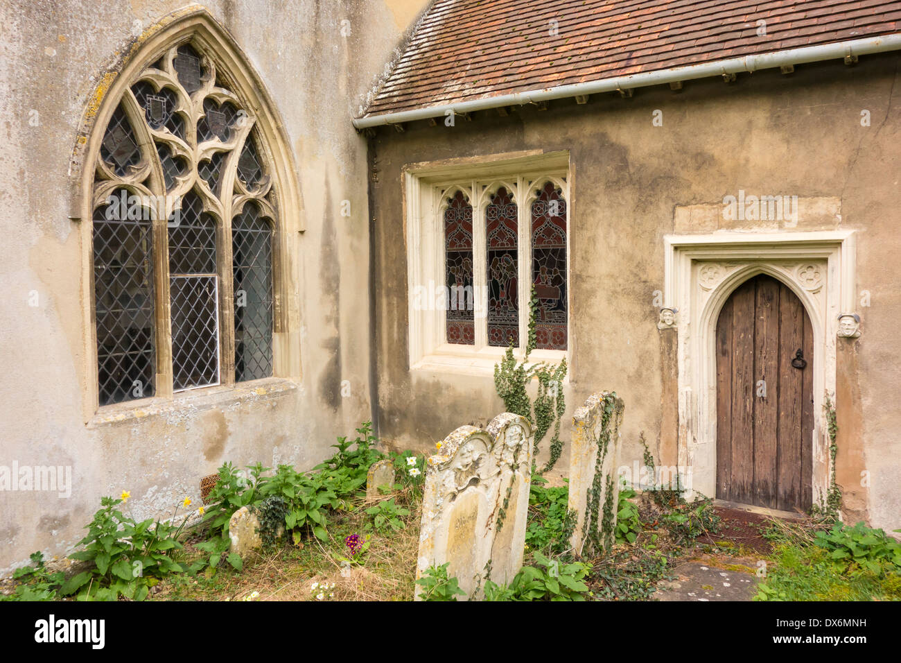
M 465 373 L 471 375 L 493 375 L 495 364 L 504 356 L 506 348 L 487 345 L 487 315 L 478 310 L 487 310 L 487 304 L 476 302 L 476 344 L 454 345 L 445 339 L 445 311 L 437 306 L 416 306 L 414 293 L 417 287 L 430 284 L 443 286 L 444 277 L 444 228 L 442 226 L 442 201 L 449 193 L 462 190 L 473 207 L 473 255 L 474 281 L 476 292 L 486 292 L 487 274 L 484 267 L 487 256 L 485 235 L 485 206 L 489 195 L 499 187 L 514 192 L 514 200 L 519 208 L 519 282 L 531 283 L 532 269 L 530 215 L 534 187 L 539 180 L 551 180 L 563 191 L 567 202 L 567 276 L 569 279 L 569 237 L 572 228 L 572 198 L 570 198 L 571 171 L 569 152 L 514 152 L 490 156 L 468 157 L 446 161 L 431 161 L 407 164 L 403 169 L 405 200 L 405 238 L 407 259 L 407 319 L 409 338 L 409 365 L 411 371 L 437 373 Z M 443 191 L 443 193 L 442 193 Z M 522 192 L 528 192 L 523 196 Z M 525 249 L 525 250 L 523 250 Z M 478 269 L 477 269 L 478 267 Z M 430 290 L 431 291 L 431 290 Z M 432 292 L 432 302 L 434 294 Z M 520 288 L 520 338 L 526 337 L 529 290 Z M 567 289 L 568 307 L 571 311 L 571 297 Z M 422 309 L 424 308 L 424 310 Z M 482 315 L 479 318 L 479 315 Z M 532 350 L 529 355 L 534 362 L 559 362 L 564 357 L 571 361 L 575 340 L 573 326 L 569 321 L 567 350 Z M 517 357 L 522 357 L 522 348 L 514 349 Z M 569 375 L 564 382 L 569 381 Z

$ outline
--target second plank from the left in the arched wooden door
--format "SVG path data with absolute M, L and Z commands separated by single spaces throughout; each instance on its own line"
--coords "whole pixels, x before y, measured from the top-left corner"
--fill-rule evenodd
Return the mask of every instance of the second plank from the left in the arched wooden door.
M 751 503 L 754 465 L 754 295 L 753 280 L 733 292 L 732 476 L 734 502 Z

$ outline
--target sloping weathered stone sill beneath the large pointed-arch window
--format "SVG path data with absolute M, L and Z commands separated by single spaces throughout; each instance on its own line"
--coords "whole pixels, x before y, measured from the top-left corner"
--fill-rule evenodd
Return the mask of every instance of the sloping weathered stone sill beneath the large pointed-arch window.
M 151 417 L 184 415 L 189 412 L 224 408 L 246 401 L 260 401 L 296 391 L 297 384 L 285 378 L 265 378 L 234 385 L 218 385 L 181 391 L 172 398 L 149 398 L 105 405 L 87 421 L 87 428 L 103 428 L 134 423 Z

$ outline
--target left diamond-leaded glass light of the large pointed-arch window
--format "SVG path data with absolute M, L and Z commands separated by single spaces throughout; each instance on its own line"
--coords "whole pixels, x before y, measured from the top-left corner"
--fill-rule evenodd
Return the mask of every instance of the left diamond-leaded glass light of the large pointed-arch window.
M 150 210 L 123 213 L 114 203 L 94 214 L 94 301 L 100 405 L 154 392 L 153 260 Z M 137 216 L 138 218 L 129 218 Z

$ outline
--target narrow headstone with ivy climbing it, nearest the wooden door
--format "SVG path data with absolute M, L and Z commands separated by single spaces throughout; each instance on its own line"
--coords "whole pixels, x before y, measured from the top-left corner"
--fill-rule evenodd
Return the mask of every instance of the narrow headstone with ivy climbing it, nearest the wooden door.
M 589 396 L 572 418 L 568 508 L 576 512 L 570 542 L 578 555 L 608 550 L 616 540 L 623 408 L 615 391 L 601 391 Z

